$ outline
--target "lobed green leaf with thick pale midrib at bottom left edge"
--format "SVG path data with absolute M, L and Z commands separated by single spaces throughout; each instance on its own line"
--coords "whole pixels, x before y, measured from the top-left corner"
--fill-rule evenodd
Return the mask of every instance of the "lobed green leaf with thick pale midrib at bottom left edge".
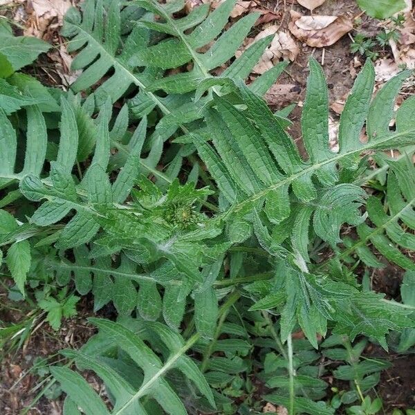
M 183 341 L 180 335 L 174 333 L 160 323 L 148 323 L 146 326 L 154 332 L 165 347 L 170 352 L 170 356 L 163 363 L 156 354 L 149 349 L 147 344 L 139 335 L 122 326 L 121 324 L 110 322 L 109 320 L 91 319 L 98 326 L 100 334 L 105 336 L 107 344 L 117 344 L 131 358 L 134 364 L 144 371 L 144 380 L 138 389 L 134 389 L 131 384 L 122 378 L 111 366 L 104 363 L 98 356 L 87 356 L 84 353 L 75 351 L 63 351 L 65 356 L 75 358 L 75 361 L 87 369 L 93 369 L 105 385 L 109 387 L 111 394 L 115 398 L 115 405 L 111 414 L 150 414 L 144 405 L 140 403 L 142 399 L 151 398 L 156 400 L 167 414 L 187 414 L 183 403 L 174 391 L 172 385 L 165 380 L 167 371 L 178 369 L 185 376 L 190 378 L 199 391 L 208 398 L 214 406 L 212 392 L 208 387 L 203 375 L 194 362 L 185 356 L 185 352 L 196 340 Z M 145 327 L 146 327 L 145 326 Z M 91 405 L 96 405 L 96 411 L 103 407 L 102 400 L 91 393 L 89 385 L 81 387 L 84 382 L 80 381 L 80 375 L 70 369 L 54 367 L 52 374 L 61 383 L 62 388 L 72 400 L 79 405 L 86 414 L 89 414 Z M 83 380 L 83 378 L 82 378 Z M 85 382 L 86 383 L 86 382 Z M 77 387 L 77 388 L 75 388 Z M 77 389 L 77 390 L 76 390 Z M 97 399 L 100 401 L 98 402 Z M 132 412 L 131 412 L 132 411 Z M 95 412 L 97 413 L 97 412 Z M 100 412 L 98 412 L 100 413 Z M 103 412 L 104 413 L 104 412 Z M 107 412 L 105 412 L 107 413 Z

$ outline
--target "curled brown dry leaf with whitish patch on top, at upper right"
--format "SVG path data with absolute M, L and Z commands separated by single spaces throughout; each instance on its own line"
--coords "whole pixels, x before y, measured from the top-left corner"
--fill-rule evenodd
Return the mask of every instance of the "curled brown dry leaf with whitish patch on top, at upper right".
M 353 29 L 345 16 L 303 16 L 291 10 L 288 29 L 297 39 L 313 48 L 330 46 Z

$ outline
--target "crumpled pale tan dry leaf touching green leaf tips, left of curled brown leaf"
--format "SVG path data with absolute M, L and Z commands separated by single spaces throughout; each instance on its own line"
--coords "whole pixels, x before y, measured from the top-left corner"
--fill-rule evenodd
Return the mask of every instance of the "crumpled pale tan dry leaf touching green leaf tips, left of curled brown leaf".
M 299 48 L 293 37 L 291 37 L 288 32 L 277 32 L 278 28 L 279 26 L 277 25 L 268 26 L 262 30 L 262 32 L 260 32 L 255 39 L 252 40 L 252 42 L 243 47 L 243 50 L 245 50 L 250 44 L 257 42 L 259 39 L 264 39 L 264 37 L 269 35 L 275 35 L 273 42 L 271 42 L 270 46 L 266 48 L 264 54 L 261 56 L 261 60 L 257 65 L 255 65 L 252 72 L 259 74 L 264 73 L 277 64 L 279 59 L 282 57 L 284 57 L 284 59 L 294 61 L 299 54 Z M 243 50 L 239 50 L 237 52 L 237 57 L 238 55 L 241 55 Z

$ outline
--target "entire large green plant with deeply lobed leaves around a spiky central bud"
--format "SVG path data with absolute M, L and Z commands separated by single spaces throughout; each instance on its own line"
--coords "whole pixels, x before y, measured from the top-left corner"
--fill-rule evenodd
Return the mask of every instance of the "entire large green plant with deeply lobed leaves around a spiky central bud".
M 95 311 L 113 302 L 118 322 L 94 320 L 98 335 L 82 351 L 64 352 L 79 369 L 102 378 L 113 414 L 185 414 L 187 406 L 212 412 L 207 380 L 221 384 L 223 395 L 215 399 L 217 411 L 225 412 L 231 403 L 225 394 L 245 393 L 240 374 L 249 379 L 254 346 L 266 347 L 267 356 L 276 349 L 282 355 L 274 353 L 274 362 L 266 358 L 264 367 L 273 362 L 277 373 L 264 371 L 261 379 L 279 389 L 275 402 L 287 405 L 294 393 L 296 412 L 331 414 L 332 409 L 315 402 L 326 387 L 311 366 L 319 356 L 311 350 L 317 348 L 317 334 L 325 335 L 330 322 L 339 337 L 364 334 L 386 347 L 389 331 L 414 326 L 412 308 L 360 291 L 338 258 L 337 268 L 331 263 L 331 277 L 318 275 L 310 264 L 322 247 L 339 249 L 340 229 L 348 223 L 357 228 L 360 241 L 353 247 L 344 239 L 349 251 L 343 259 L 356 251 L 367 265 L 378 265 L 367 247 L 370 241 L 384 257 L 413 266 L 400 252 L 414 249 L 415 175 L 409 158 L 385 162 L 391 166 L 386 199 L 370 196 L 366 212 L 366 193 L 356 185 L 366 180 L 362 154 L 394 148 L 402 153 L 414 143 L 412 100 L 397 111 L 396 129 L 389 129 L 396 94 L 409 73 L 388 82 L 371 101 L 374 68 L 365 64 L 342 113 L 336 153 L 329 144 L 324 73 L 312 59 L 302 115 L 305 160 L 286 132 L 292 106 L 273 113 L 257 95 L 285 64 L 250 86 L 243 83 L 271 37 L 228 62 L 257 15 L 250 13 L 224 30 L 234 1 L 210 14 L 208 6 L 201 6 L 185 17 L 178 14 L 183 6 L 183 1 L 86 0 L 81 12 L 71 10 L 64 32 L 71 38 L 69 48 L 77 51 L 73 68 L 82 71 L 73 90 L 83 94 L 60 94 L 58 109 L 46 104 L 47 94 L 57 96 L 56 91 L 40 91 L 27 80 L 26 93 L 24 79 L 12 83 L 16 74 L 8 75 L 3 107 L 10 112 L 24 107 L 28 132 L 25 123 L 17 131 L 8 113 L 1 113 L 0 184 L 14 189 L 19 181 L 20 192 L 36 202 L 36 210 L 31 223 L 23 225 L 2 214 L 2 244 L 14 243 L 6 264 L 12 264 L 13 247 L 24 243 L 33 268 L 23 264 L 13 270 L 9 264 L 12 274 L 20 273 L 21 287 L 26 274 L 55 277 L 62 286 L 73 278 L 80 294 L 92 291 Z M 188 72 L 178 68 L 185 65 Z M 227 68 L 213 77 L 214 68 L 222 65 Z M 92 90 L 95 95 L 88 95 Z M 120 99 L 126 102 L 113 113 L 111 105 Z M 53 116 L 42 116 L 58 110 L 60 136 L 46 131 L 46 125 L 56 128 Z M 19 115 L 12 115 L 13 122 Z M 138 127 L 131 116 L 140 119 Z M 365 123 L 369 140 L 362 143 Z M 185 144 L 173 142 L 163 151 L 163 142 L 178 130 L 183 136 L 175 141 Z M 25 145 L 23 162 L 19 151 Z M 191 156 L 194 147 L 205 165 Z M 178 178 L 187 183 L 181 185 Z M 59 252 L 44 255 L 50 243 Z M 41 256 L 44 264 L 39 265 Z M 66 295 L 65 290 L 59 293 Z M 75 299 L 69 296 L 65 307 L 62 296 L 49 296 L 39 306 L 57 327 L 62 316 L 75 313 Z M 267 318 L 268 309 L 273 317 Z M 293 341 L 289 365 L 296 373 L 290 368 L 295 375 L 290 392 L 287 353 L 278 338 L 291 340 L 298 327 L 311 344 Z M 185 356 L 190 348 L 203 355 L 201 369 Z M 326 355 L 344 357 L 344 351 Z M 107 411 L 75 372 L 59 370 L 68 412 L 77 414 L 80 407 L 91 413 L 91 403 L 96 413 Z M 345 377 L 342 371 L 347 369 L 339 369 Z M 376 384 L 376 373 L 362 379 L 362 390 Z M 243 387 L 248 389 L 249 382 Z

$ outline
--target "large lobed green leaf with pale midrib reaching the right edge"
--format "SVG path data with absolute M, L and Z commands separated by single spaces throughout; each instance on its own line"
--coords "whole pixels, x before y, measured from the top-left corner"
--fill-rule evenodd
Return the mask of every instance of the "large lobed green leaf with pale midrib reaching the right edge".
M 406 131 L 383 131 L 381 126 L 385 120 L 389 123 L 391 114 L 385 113 L 382 118 L 375 116 L 375 111 L 383 105 L 378 98 L 369 106 L 374 68 L 367 62 L 346 104 L 347 111 L 342 115 L 340 151 L 335 154 L 329 149 L 328 98 L 324 74 L 313 59 L 310 61 L 310 71 L 302 116 L 304 143 L 310 156 L 308 163 L 299 157 L 297 148 L 266 104 L 243 84 L 238 84 L 237 91 L 248 107 L 247 111 L 239 111 L 223 98 L 215 98 L 216 111 L 210 109 L 206 115 L 218 154 L 203 137 L 194 138 L 199 155 L 211 169 L 219 189 L 231 204 L 227 214 L 232 212 L 243 216 L 252 211 L 256 204 L 261 205 L 265 201 L 268 219 L 275 224 L 272 232 L 275 242 L 281 243 L 288 238 L 290 232 L 287 232 L 287 228 L 293 228 L 293 246 L 306 260 L 308 252 L 304 240 L 307 232 L 301 231 L 308 228 L 308 221 L 312 218 L 315 233 L 332 246 L 340 242 L 338 232 L 342 223 L 358 225 L 365 219 L 358 209 L 364 202 L 365 192 L 346 184 L 336 185 L 333 191 L 333 185 L 339 180 L 338 165 L 356 168 L 356 160 L 362 151 L 401 147 L 413 142 L 415 133 L 409 126 Z M 404 73 L 396 77 L 398 85 L 407 75 Z M 378 95 L 394 96 L 396 92 L 395 87 L 392 91 L 389 82 Z M 369 142 L 362 144 L 360 129 L 367 116 L 371 129 L 381 132 L 373 134 Z M 320 181 L 320 185 L 313 181 L 313 176 Z M 290 207 L 295 206 L 296 201 L 288 197 L 290 186 L 300 202 L 299 207 L 291 213 Z M 239 194 L 237 203 L 234 191 L 230 191 L 232 188 Z M 306 207 L 302 208 L 301 205 Z M 295 223 L 302 224 L 301 230 L 295 228 Z

